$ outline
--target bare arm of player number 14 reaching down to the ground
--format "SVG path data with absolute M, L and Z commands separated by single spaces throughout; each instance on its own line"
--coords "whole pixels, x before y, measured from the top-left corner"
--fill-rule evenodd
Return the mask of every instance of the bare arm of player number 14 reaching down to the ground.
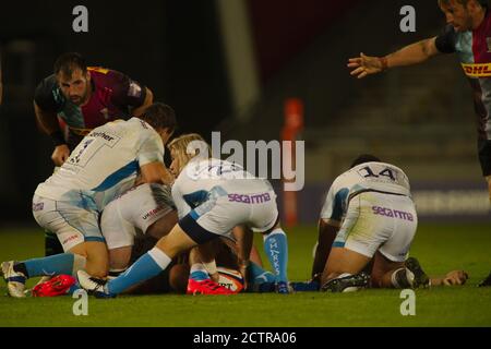
M 322 275 L 325 263 L 331 253 L 331 246 L 339 231 L 340 222 L 333 219 L 319 220 L 319 240 L 315 249 L 314 262 L 312 265 L 312 278 L 315 279 Z

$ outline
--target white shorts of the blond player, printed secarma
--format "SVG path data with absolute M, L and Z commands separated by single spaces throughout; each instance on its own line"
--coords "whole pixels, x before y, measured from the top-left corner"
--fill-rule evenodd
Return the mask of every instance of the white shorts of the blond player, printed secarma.
M 209 200 L 179 220 L 179 226 L 197 243 L 216 236 L 233 239 L 231 230 L 246 225 L 256 232 L 273 228 L 278 219 L 276 194 L 265 185 L 259 193 L 227 193 L 220 186 L 209 192 Z

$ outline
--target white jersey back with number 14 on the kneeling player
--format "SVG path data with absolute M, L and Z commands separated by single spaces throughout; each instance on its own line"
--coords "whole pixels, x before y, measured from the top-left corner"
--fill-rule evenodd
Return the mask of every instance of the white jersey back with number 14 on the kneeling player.
M 363 191 L 410 196 L 409 179 L 404 171 L 391 164 L 364 163 L 340 174 L 333 183 L 336 188 L 349 190 L 349 196 Z

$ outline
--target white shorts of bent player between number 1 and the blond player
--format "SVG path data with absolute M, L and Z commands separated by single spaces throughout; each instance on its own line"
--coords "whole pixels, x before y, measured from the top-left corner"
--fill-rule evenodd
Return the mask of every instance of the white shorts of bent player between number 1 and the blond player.
M 173 210 L 170 191 L 161 184 L 135 186 L 104 208 L 100 229 L 109 250 L 131 246 L 136 229 L 149 226 Z

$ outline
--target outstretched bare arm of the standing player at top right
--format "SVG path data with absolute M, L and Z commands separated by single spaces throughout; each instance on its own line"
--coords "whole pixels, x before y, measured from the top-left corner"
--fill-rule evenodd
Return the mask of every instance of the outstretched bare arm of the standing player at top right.
M 424 39 L 402 48 L 385 57 L 370 57 L 360 53 L 360 57 L 350 58 L 348 68 L 350 74 L 358 79 L 367 75 L 381 73 L 390 68 L 412 65 L 424 62 L 429 58 L 439 53 L 435 45 L 436 37 Z

